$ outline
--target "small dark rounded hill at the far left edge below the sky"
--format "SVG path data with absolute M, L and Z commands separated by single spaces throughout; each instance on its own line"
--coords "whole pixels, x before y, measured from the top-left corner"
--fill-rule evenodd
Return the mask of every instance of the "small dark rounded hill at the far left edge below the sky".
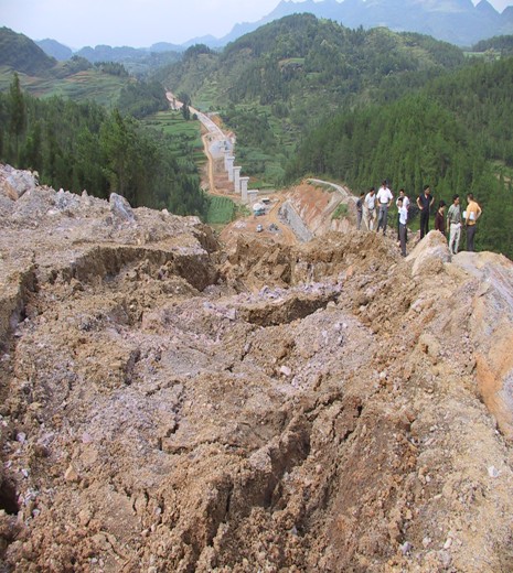
M 45 76 L 56 61 L 23 34 L 0 28 L 0 66 L 33 76 Z

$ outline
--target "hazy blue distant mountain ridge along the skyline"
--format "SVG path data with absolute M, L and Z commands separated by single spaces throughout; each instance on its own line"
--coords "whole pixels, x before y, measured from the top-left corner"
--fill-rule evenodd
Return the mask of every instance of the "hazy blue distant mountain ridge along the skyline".
M 56 60 L 66 60 L 76 54 L 93 63 L 106 58 L 122 62 L 133 55 L 183 52 L 194 44 L 221 48 L 264 24 L 295 13 L 311 13 L 317 18 L 339 22 L 345 28 L 362 26 L 368 30 L 383 26 L 394 32 L 418 32 L 458 46 L 471 46 L 492 36 L 513 34 L 513 7 L 507 7 L 499 13 L 488 0 L 481 0 L 477 6 L 473 6 L 471 0 L 282 0 L 269 14 L 256 22 L 235 24 L 223 37 L 205 35 L 193 37 L 180 45 L 168 42 L 141 48 L 98 45 L 85 46 L 73 52 L 54 40 L 42 40 L 36 44 Z

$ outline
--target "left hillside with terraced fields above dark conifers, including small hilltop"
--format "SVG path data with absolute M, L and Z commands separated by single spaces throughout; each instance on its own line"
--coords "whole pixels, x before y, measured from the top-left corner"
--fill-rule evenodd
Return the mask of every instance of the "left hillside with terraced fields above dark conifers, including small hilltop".
M 137 120 L 169 109 L 160 83 L 117 62 L 57 63 L 9 29 L 0 46 L 0 161 L 36 170 L 55 188 L 116 191 L 133 206 L 179 215 L 207 212 L 191 147 Z

